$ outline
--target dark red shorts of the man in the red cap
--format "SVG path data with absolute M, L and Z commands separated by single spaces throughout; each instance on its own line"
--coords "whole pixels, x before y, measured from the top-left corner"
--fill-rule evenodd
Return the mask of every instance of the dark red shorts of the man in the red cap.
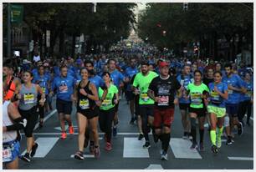
M 154 127 L 160 129 L 161 125 L 166 127 L 171 127 L 172 121 L 174 119 L 174 109 L 154 109 Z

